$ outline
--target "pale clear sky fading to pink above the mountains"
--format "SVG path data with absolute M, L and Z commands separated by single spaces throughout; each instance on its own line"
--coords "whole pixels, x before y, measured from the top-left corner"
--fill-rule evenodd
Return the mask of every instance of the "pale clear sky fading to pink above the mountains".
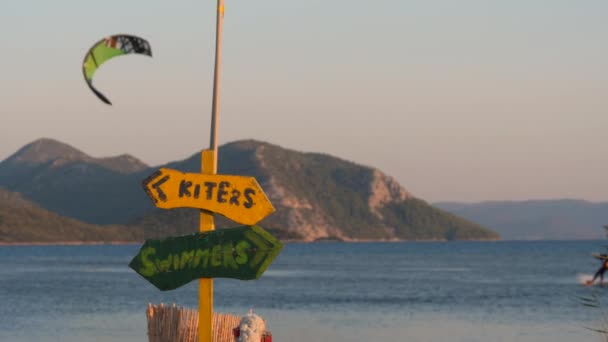
M 3 0 L 0 160 L 209 146 L 213 0 Z M 378 168 L 427 201 L 608 200 L 608 1 L 226 0 L 220 143 Z M 82 60 L 116 33 L 153 58 Z

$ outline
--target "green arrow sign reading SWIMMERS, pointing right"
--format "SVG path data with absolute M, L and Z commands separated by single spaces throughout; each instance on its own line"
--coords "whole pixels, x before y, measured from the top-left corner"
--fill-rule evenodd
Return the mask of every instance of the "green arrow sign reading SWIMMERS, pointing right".
M 259 278 L 283 244 L 258 226 L 147 240 L 129 267 L 161 291 L 199 278 Z

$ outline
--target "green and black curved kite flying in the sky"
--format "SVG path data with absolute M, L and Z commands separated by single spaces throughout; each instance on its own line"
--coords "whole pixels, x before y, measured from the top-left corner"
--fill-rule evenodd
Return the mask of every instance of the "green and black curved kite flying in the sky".
M 93 74 L 95 74 L 95 71 L 97 71 L 97 69 L 107 60 L 131 53 L 152 57 L 152 49 L 147 40 L 125 34 L 110 36 L 98 41 L 84 57 L 82 73 L 85 81 L 93 93 L 95 93 L 100 100 L 109 105 L 112 104 L 110 100 L 93 86 Z

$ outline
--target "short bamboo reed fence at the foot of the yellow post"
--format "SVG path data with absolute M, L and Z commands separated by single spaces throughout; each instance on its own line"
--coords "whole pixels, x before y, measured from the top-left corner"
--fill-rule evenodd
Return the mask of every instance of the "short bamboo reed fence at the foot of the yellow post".
M 148 304 L 149 342 L 198 342 L 198 311 L 173 305 Z M 232 329 L 239 326 L 241 317 L 232 314 L 213 314 L 213 341 L 234 342 Z

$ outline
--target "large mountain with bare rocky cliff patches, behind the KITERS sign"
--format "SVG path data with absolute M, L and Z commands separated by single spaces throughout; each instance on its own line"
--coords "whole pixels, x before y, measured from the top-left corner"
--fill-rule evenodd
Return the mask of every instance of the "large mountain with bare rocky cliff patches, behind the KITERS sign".
M 255 177 L 276 208 L 260 225 L 282 239 L 496 239 L 472 222 L 428 205 L 377 169 L 329 155 L 302 153 L 253 140 L 224 145 L 219 173 Z M 166 167 L 198 172 L 200 155 Z M 196 227 L 197 213 L 158 210 L 135 222 L 154 235 Z M 177 225 L 176 225 L 177 223 Z M 219 220 L 218 226 L 230 226 Z M 178 228 L 180 229 L 180 228 Z M 180 231 L 182 232 L 182 231 Z

